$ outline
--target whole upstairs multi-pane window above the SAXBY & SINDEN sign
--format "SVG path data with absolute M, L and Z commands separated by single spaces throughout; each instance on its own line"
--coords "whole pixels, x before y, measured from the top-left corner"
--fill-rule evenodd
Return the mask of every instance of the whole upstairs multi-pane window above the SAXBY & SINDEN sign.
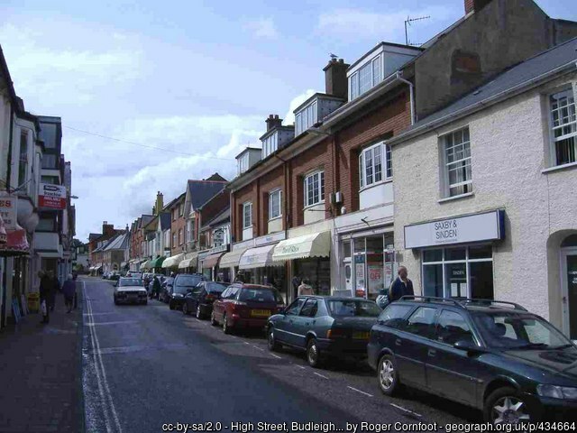
M 445 197 L 472 191 L 471 142 L 469 128 L 441 137 L 444 146 Z

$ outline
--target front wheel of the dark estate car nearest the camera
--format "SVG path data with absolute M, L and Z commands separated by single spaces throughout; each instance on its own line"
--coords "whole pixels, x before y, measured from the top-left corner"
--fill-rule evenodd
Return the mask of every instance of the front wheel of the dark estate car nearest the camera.
M 525 398 L 510 387 L 490 393 L 485 401 L 483 418 L 491 424 L 517 424 L 536 420 Z

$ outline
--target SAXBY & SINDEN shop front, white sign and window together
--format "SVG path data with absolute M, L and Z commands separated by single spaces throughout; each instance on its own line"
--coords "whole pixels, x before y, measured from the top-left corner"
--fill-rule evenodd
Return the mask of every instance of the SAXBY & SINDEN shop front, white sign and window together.
M 405 249 L 417 253 L 422 293 L 439 298 L 494 299 L 494 244 L 505 236 L 494 210 L 405 226 Z

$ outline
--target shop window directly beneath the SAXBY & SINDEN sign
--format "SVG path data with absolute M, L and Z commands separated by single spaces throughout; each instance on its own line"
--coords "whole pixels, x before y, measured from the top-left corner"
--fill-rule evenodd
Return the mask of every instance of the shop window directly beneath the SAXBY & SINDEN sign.
M 492 246 L 424 250 L 425 296 L 493 299 Z

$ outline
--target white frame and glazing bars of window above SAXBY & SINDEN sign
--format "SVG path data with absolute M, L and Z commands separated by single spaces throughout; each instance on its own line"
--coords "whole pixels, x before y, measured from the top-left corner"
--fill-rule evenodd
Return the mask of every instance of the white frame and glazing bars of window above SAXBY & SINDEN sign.
M 454 137 L 455 134 L 462 134 L 463 136 L 463 141 L 461 143 L 455 144 L 454 142 Z M 467 136 L 469 137 L 467 140 L 465 140 L 465 133 L 467 134 Z M 448 146 L 448 138 L 452 137 L 453 138 L 453 143 Z M 459 196 L 464 196 L 464 195 L 469 195 L 472 193 L 472 150 L 471 150 L 471 131 L 469 130 L 469 126 L 463 126 L 462 128 L 459 129 L 455 129 L 454 131 L 451 131 L 447 134 L 443 134 L 439 137 L 439 141 L 440 141 L 440 148 L 441 148 L 441 161 L 443 161 L 443 191 L 442 191 L 442 195 L 444 198 L 453 198 L 453 197 L 459 197 Z M 469 156 L 466 156 L 465 154 L 465 148 L 469 147 Z M 453 161 L 448 161 L 448 151 L 449 149 L 453 149 L 453 151 L 457 150 L 458 146 L 463 146 L 463 157 L 460 159 L 455 159 Z M 450 183 L 450 174 L 449 171 L 451 170 L 455 170 L 453 169 L 453 166 L 458 169 L 458 170 L 463 170 L 465 169 L 466 172 L 466 167 L 469 167 L 469 171 L 471 173 L 471 177 L 469 179 L 464 179 L 461 180 L 459 182 L 456 183 Z M 464 192 L 460 192 L 458 194 L 451 194 L 451 189 L 453 188 L 459 188 L 459 187 L 466 187 Z

